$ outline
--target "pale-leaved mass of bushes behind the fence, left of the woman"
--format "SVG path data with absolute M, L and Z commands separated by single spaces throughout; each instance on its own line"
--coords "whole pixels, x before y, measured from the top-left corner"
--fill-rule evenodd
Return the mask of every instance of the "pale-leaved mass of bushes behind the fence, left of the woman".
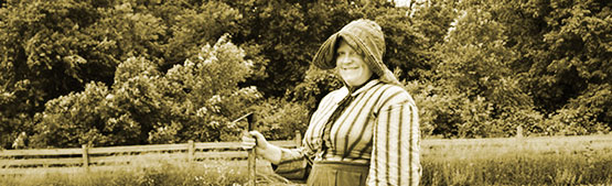
M 175 143 L 236 140 L 241 128 L 229 123 L 261 95 L 239 88 L 251 62 L 222 36 L 168 73 L 143 58 L 119 65 L 115 83 L 90 83 L 84 91 L 45 106 L 34 138 L 37 146 Z

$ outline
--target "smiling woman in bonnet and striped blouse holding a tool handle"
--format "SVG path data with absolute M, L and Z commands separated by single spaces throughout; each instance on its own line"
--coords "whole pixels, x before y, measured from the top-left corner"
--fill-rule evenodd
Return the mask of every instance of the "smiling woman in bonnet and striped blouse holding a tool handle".
M 345 25 L 313 59 L 319 68 L 335 68 L 344 87 L 321 100 L 302 147 L 275 146 L 257 131 L 245 133 L 244 146 L 255 146 L 279 175 L 308 177 L 308 185 L 418 185 L 417 107 L 384 65 L 384 52 L 374 21 Z

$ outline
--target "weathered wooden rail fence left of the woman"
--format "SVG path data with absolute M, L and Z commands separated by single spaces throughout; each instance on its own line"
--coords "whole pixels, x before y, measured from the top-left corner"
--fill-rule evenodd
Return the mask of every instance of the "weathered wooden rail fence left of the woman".
M 301 139 L 296 133 L 294 139 Z M 283 147 L 299 146 L 299 140 L 270 141 Z M 0 174 L 12 173 L 10 169 L 31 167 L 66 167 L 82 166 L 88 168 L 96 165 L 129 164 L 138 156 L 151 154 L 168 154 L 164 158 L 202 161 L 213 158 L 246 158 L 247 151 L 241 149 L 240 142 L 208 142 L 181 144 L 150 144 L 130 146 L 80 149 L 39 149 L 39 150 L 4 150 L 0 151 Z M 136 158 L 135 158 L 136 157 Z M 7 169 L 9 169 L 7 172 Z

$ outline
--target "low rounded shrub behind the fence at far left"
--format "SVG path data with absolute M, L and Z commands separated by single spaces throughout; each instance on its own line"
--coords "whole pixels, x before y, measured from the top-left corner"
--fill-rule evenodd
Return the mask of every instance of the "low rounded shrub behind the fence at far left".
M 69 94 L 49 101 L 39 116 L 34 146 L 71 146 L 82 144 L 114 145 L 135 141 L 140 125 L 130 113 L 115 112 L 108 99 L 108 88 L 89 83 L 82 92 Z

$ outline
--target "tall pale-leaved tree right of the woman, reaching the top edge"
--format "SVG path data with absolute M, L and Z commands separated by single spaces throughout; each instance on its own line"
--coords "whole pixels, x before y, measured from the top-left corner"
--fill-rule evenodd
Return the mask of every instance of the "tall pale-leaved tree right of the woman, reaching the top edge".
M 513 134 L 518 125 L 538 125 L 541 117 L 533 110 L 534 103 L 519 84 L 522 79 L 517 75 L 522 72 L 513 66 L 519 56 L 508 42 L 517 35 L 508 34 L 512 32 L 505 22 L 512 11 L 505 8 L 513 4 L 462 1 L 458 6 L 459 17 L 444 42 L 436 46 L 439 57 L 434 62 L 434 78 L 437 86 L 444 87 L 438 94 L 458 101 L 453 103 L 457 107 L 449 108 L 452 112 L 472 110 L 474 113 L 438 122 L 445 125 L 442 129 L 451 130 L 437 131 L 491 136 Z M 462 129 L 482 130 L 465 133 Z

